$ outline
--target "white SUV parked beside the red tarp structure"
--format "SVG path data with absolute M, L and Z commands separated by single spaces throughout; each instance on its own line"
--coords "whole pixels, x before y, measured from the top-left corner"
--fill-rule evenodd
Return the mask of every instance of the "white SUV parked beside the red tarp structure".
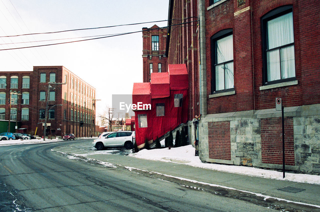
M 97 150 L 102 150 L 105 147 L 124 147 L 126 149 L 132 148 L 132 137 L 135 136 L 134 131 L 119 131 L 110 132 L 106 137 L 95 139 L 92 142 Z

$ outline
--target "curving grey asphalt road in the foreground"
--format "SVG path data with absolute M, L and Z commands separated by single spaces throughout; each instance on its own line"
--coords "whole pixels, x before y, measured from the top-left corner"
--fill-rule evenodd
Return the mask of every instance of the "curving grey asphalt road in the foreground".
M 276 211 L 52 151 L 70 142 L 0 146 L 0 211 Z

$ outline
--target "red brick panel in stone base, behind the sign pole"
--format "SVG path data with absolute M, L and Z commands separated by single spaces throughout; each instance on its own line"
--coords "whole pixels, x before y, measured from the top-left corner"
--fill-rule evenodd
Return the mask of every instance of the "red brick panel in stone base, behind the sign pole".
M 293 118 L 284 120 L 285 164 L 295 165 Z M 261 154 L 263 163 L 282 164 L 282 118 L 261 119 Z

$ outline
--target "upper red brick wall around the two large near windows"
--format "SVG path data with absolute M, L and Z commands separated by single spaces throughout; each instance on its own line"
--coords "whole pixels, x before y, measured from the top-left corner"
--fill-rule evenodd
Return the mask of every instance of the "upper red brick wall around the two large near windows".
M 298 84 L 260 90 L 263 85 L 261 17 L 284 5 L 293 7 L 295 76 Z M 320 87 L 317 86 L 320 79 L 320 61 L 317 59 L 320 25 L 317 23 L 320 17 L 317 1 L 247 0 L 238 6 L 236 0 L 227 0 L 209 7 L 209 1 L 206 1 L 208 114 L 270 109 L 275 107 L 276 97 L 282 97 L 284 107 L 320 103 Z M 235 94 L 209 98 L 213 65 L 210 38 L 228 28 L 233 29 Z

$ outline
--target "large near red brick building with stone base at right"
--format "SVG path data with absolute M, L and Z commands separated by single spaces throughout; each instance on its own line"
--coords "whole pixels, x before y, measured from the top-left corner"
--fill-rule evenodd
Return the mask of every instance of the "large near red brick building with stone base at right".
M 320 7 L 300 0 L 171 0 L 169 64 L 189 73 L 202 161 L 320 173 Z M 169 26 L 173 25 L 169 21 Z M 198 66 L 200 64 L 200 66 Z M 194 131 L 189 131 L 191 143 Z

